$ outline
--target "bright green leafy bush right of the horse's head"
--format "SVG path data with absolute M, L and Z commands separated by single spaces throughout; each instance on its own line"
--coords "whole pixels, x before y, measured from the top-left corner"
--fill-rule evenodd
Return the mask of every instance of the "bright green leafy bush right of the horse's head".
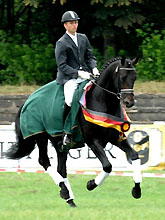
M 143 37 L 141 45 L 142 59 L 137 65 L 139 78 L 145 80 L 165 80 L 165 30 L 161 32 L 147 27 L 138 29 Z

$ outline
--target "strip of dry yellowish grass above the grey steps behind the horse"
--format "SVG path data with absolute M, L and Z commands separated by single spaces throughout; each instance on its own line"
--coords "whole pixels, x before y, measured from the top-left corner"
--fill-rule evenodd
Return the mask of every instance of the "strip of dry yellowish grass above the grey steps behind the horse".
M 4 85 L 0 86 L 0 94 L 31 94 L 39 86 L 37 85 L 21 85 L 21 86 L 11 86 L 11 85 Z M 147 93 L 147 94 L 162 94 L 165 93 L 165 82 L 156 82 L 156 81 L 140 81 L 137 80 L 135 82 L 135 94 L 139 93 Z

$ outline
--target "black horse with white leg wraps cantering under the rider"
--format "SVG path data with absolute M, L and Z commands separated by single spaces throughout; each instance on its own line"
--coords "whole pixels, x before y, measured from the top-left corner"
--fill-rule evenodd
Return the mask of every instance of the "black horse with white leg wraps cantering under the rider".
M 130 60 L 122 57 L 110 60 L 101 71 L 100 77 L 93 81 L 91 89 L 86 94 L 86 109 L 104 116 L 108 115 L 120 118 L 121 113 L 123 113 L 121 110 L 121 101 L 126 107 L 132 107 L 134 105 L 133 86 L 136 80 L 135 65 L 137 62 L 138 58 Z M 132 195 L 134 198 L 140 198 L 140 183 L 142 181 L 140 159 L 138 153 L 130 146 L 124 135 L 122 130 L 124 126 L 123 128 L 121 126 L 120 130 L 115 127 L 104 127 L 92 123 L 85 119 L 83 110 L 84 109 L 80 108 L 77 116 L 80 131 L 83 135 L 84 142 L 91 148 L 103 167 L 103 171 L 96 176 L 95 179 L 88 181 L 87 189 L 93 190 L 101 185 L 112 171 L 112 165 L 104 151 L 106 144 L 110 142 L 123 150 L 126 153 L 127 159 L 132 162 L 133 180 L 135 182 Z M 38 109 L 36 109 L 36 111 L 38 111 Z M 8 150 L 6 157 L 19 159 L 27 156 L 34 150 L 35 144 L 37 144 L 39 148 L 40 165 L 44 167 L 54 182 L 61 188 L 60 196 L 65 199 L 70 206 L 76 207 L 73 192 L 67 179 L 66 161 L 68 152 L 61 152 L 58 146 L 62 137 L 53 137 L 45 130 L 45 132 L 24 139 L 20 129 L 20 117 L 21 108 L 16 116 L 17 142 Z M 126 123 L 126 128 L 128 128 L 128 123 Z M 51 167 L 47 155 L 48 140 L 52 142 L 57 152 L 57 171 Z

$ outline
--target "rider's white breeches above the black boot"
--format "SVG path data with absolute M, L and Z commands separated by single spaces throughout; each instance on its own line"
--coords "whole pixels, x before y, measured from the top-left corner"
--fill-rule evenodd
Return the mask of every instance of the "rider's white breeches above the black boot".
M 65 103 L 68 106 L 71 106 L 72 104 L 73 95 L 74 95 L 75 90 L 77 89 L 78 84 L 83 81 L 84 79 L 82 78 L 70 79 L 64 84 Z

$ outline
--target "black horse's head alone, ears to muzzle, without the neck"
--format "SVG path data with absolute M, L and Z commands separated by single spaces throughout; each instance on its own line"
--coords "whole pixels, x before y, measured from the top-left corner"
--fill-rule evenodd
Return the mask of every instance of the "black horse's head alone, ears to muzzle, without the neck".
M 121 97 L 123 104 L 127 108 L 134 105 L 134 82 L 137 78 L 135 65 L 139 58 L 133 60 L 126 59 L 124 56 L 121 59 L 121 65 L 118 67 L 118 73 L 120 77 Z

